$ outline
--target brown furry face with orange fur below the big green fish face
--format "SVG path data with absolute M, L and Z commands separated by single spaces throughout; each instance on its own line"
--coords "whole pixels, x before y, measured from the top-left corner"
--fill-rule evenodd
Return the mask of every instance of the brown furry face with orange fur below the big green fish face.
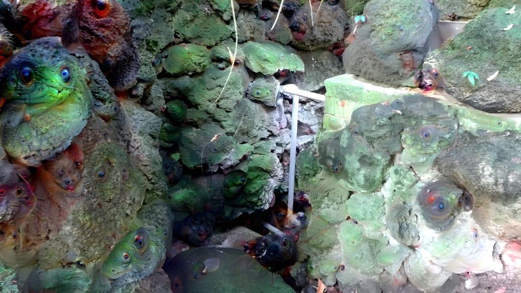
M 56 160 L 49 161 L 47 168 L 53 181 L 67 190 L 74 190 L 83 174 L 83 162 L 74 161 L 64 154 L 56 155 Z

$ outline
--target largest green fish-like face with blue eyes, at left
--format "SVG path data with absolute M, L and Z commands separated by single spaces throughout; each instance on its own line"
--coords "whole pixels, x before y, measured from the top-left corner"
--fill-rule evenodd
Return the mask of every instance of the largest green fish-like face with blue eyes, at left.
M 35 153 L 47 160 L 85 126 L 92 94 L 76 58 L 56 38 L 21 48 L 0 79 L 0 119 L 9 126 L 1 129 L 2 146 L 15 160 Z

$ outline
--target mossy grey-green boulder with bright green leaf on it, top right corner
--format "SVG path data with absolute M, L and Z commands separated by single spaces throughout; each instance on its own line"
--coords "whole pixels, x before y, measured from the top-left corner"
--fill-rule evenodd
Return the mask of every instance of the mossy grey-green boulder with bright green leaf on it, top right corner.
M 485 112 L 521 111 L 521 72 L 513 66 L 521 63 L 521 33 L 503 30 L 521 25 L 520 14 L 505 14 L 511 7 L 483 10 L 465 25 L 464 32 L 426 58 L 445 77 L 449 94 Z M 488 81 L 498 70 L 499 75 Z M 466 71 L 479 76 L 475 86 L 463 77 Z

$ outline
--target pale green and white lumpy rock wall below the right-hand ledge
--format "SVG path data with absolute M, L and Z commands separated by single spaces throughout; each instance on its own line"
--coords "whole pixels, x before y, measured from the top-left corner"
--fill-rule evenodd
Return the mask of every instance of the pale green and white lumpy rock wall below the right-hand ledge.
M 518 138 L 514 116 L 418 94 L 319 131 L 297 157 L 315 216 L 299 247 L 308 276 L 344 292 L 516 290 Z

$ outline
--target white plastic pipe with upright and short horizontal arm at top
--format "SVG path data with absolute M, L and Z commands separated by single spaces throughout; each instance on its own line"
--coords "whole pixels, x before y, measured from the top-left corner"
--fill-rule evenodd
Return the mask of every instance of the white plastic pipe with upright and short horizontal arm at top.
M 295 194 L 295 163 L 296 163 L 296 129 L 299 123 L 299 97 L 307 97 L 319 102 L 325 102 L 326 96 L 297 88 L 295 84 L 282 86 L 282 91 L 293 95 L 293 108 L 291 110 L 291 143 L 290 143 L 290 178 L 288 186 L 288 207 L 293 211 L 293 197 Z

